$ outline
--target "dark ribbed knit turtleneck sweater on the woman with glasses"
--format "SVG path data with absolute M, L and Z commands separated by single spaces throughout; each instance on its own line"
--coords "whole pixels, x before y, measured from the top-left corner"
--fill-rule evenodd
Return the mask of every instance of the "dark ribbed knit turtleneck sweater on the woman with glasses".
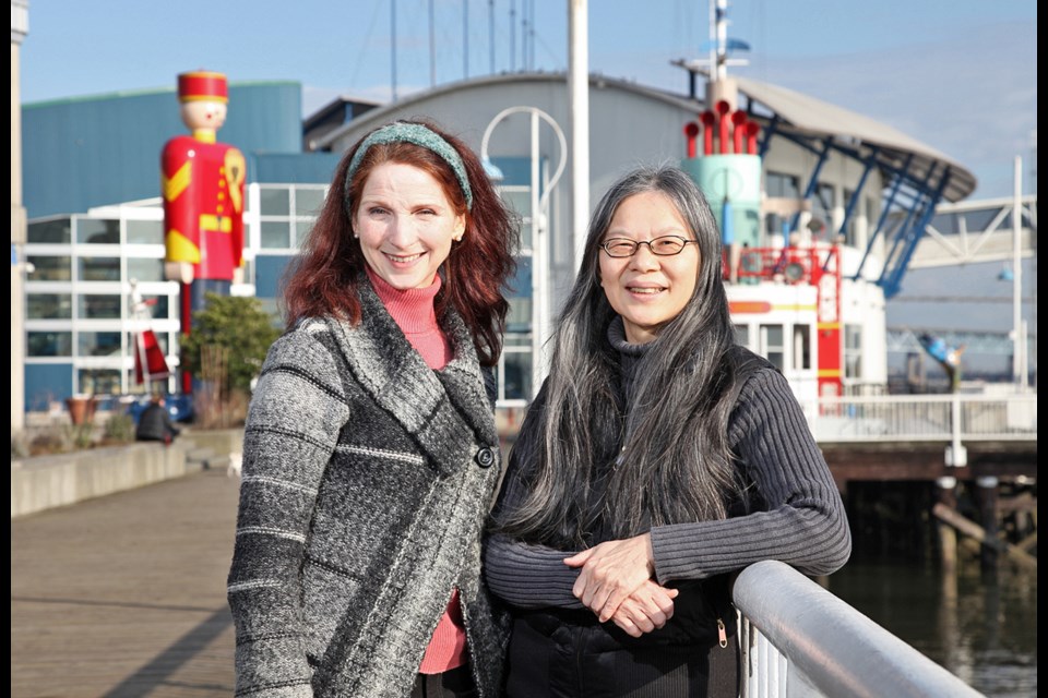
M 612 323 L 609 340 L 620 354 L 620 388 L 628 400 L 645 348 L 629 345 L 620 323 Z M 742 348 L 737 351 L 754 357 Z M 809 575 L 827 575 L 850 555 L 844 505 L 800 405 L 785 377 L 766 361 L 758 361 L 760 368 L 750 372 L 738 393 L 728 442 L 762 504 L 735 518 L 652 528 L 659 583 L 707 579 L 763 559 L 777 559 Z M 515 453 L 520 450 L 529 449 Z M 523 501 L 519 474 L 524 467 L 511 457 L 497 516 Z M 598 542 L 600 537 L 594 539 Z M 575 552 L 493 535 L 485 553 L 489 588 L 517 610 L 582 609 L 571 591 L 579 570 L 563 563 Z

